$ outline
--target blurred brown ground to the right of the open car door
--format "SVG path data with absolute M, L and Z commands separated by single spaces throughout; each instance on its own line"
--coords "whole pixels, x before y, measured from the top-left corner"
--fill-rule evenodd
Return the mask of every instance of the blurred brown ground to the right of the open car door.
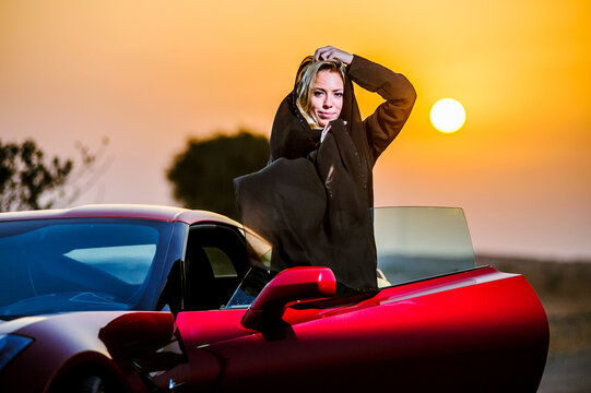
M 477 261 L 523 274 L 546 310 L 549 350 L 539 392 L 591 392 L 591 262 L 489 255 Z

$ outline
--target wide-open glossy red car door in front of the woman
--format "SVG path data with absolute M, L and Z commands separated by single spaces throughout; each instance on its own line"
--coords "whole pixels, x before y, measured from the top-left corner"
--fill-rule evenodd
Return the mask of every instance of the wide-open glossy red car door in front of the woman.
M 436 225 L 409 211 L 397 221 L 447 229 L 447 240 L 454 225 L 465 227 L 463 213 L 432 213 L 463 224 Z M 440 239 L 418 247 L 411 235 L 425 235 L 406 227 L 394 254 L 413 254 L 380 264 L 380 290 L 289 302 L 280 323 L 255 329 L 245 326 L 244 308 L 180 312 L 176 322 L 190 371 L 179 391 L 535 391 L 548 331 L 527 281 L 476 267 L 473 254 L 464 258 L 465 247 Z M 465 237 L 461 243 L 468 245 Z M 400 272 L 406 265 L 410 276 Z

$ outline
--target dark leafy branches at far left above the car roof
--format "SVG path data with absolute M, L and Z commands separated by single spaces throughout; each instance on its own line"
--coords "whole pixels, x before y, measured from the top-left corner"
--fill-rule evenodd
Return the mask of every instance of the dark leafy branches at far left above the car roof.
M 108 140 L 103 140 L 105 146 Z M 58 201 L 73 202 L 80 194 L 74 180 L 83 178 L 96 156 L 78 144 L 82 155 L 80 170 L 73 172 L 74 162 L 54 157 L 47 162 L 45 153 L 33 140 L 23 143 L 0 141 L 0 211 L 50 209 Z M 69 191 L 67 192 L 67 188 Z

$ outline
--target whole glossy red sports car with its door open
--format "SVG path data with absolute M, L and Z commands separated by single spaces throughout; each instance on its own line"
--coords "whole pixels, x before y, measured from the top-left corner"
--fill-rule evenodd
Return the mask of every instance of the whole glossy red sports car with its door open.
M 374 212 L 379 289 L 273 272 L 256 234 L 142 205 L 0 214 L 1 392 L 534 392 L 548 323 L 459 209 Z M 355 239 L 352 239 L 355 241 Z

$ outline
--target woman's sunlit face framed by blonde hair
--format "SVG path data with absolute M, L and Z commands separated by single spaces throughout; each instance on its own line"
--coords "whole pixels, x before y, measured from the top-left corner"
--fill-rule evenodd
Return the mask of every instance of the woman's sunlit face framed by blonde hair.
M 311 94 L 311 116 L 324 127 L 336 120 L 343 107 L 343 79 L 331 70 L 321 70 L 316 75 Z

